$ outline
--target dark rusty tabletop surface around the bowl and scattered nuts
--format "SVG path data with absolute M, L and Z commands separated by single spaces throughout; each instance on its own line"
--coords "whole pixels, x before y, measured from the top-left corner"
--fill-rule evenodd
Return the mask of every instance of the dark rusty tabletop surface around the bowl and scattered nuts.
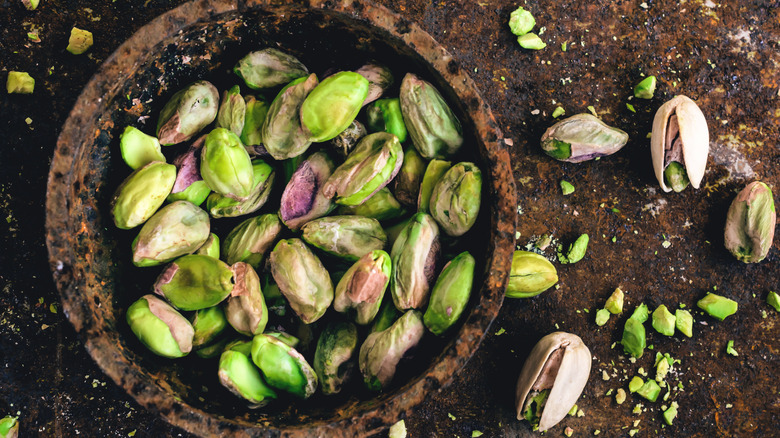
M 49 311 L 59 298 L 43 231 L 47 157 L 78 93 L 122 41 L 174 3 L 181 2 L 44 1 L 35 12 L 17 2 L 2 4 L 0 69 L 29 71 L 38 80 L 32 96 L 0 92 L 0 209 L 8 224 L 0 228 L 5 249 L 0 255 L 0 415 L 18 411 L 28 436 L 184 435 L 113 385 L 62 313 Z M 513 2 L 379 3 L 419 24 L 453 55 L 512 140 L 522 211 L 518 245 L 543 233 L 563 243 L 583 232 L 592 238 L 581 262 L 556 264 L 559 289 L 504 303 L 453 384 L 409 414 L 410 436 L 467 437 L 474 430 L 484 436 L 533 436 L 513 418 L 513 387 L 533 343 L 557 328 L 581 336 L 595 359 L 579 402 L 585 416 L 565 419 L 553 436 L 567 426 L 577 436 L 596 430 L 601 436 L 625 436 L 634 428 L 638 436 L 774 436 L 780 418 L 780 316 L 764 300 L 768 291 L 780 289 L 780 244 L 776 239 L 761 264 L 746 266 L 723 249 L 721 235 L 725 210 L 746 182 L 780 186 L 777 2 L 648 1 L 647 8 L 640 1 L 529 2 L 537 29 L 546 28 L 542 38 L 548 47 L 539 52 L 520 49 L 508 32 Z M 63 50 L 74 24 L 95 33 L 89 55 L 74 57 Z M 34 26 L 40 28 L 41 43 L 26 40 Z M 563 42 L 568 42 L 565 52 Z M 658 76 L 656 97 L 629 101 L 642 74 Z M 649 167 L 645 135 L 654 110 L 679 93 L 702 107 L 710 124 L 711 156 L 703 189 L 663 194 Z M 607 123 L 631 135 L 629 144 L 596 162 L 548 159 L 537 140 L 552 123 L 553 101 L 569 115 L 592 105 Z M 577 191 L 561 196 L 561 179 Z M 625 388 L 640 367 L 652 376 L 651 354 L 631 363 L 619 346 L 610 348 L 620 339 L 625 315 L 601 328 L 593 322 L 595 310 L 617 285 L 627 291 L 628 308 L 646 302 L 695 309 L 714 287 L 739 302 L 739 312 L 723 322 L 694 310 L 692 339 L 662 338 L 648 327 L 654 351 L 682 360 L 671 379 L 684 388 L 671 393 L 670 401 L 680 404 L 672 427 L 661 426 L 660 401 L 629 395 L 618 406 L 605 395 Z M 738 357 L 725 354 L 730 339 Z M 602 380 L 602 371 L 610 380 Z M 637 403 L 644 409 L 633 414 Z

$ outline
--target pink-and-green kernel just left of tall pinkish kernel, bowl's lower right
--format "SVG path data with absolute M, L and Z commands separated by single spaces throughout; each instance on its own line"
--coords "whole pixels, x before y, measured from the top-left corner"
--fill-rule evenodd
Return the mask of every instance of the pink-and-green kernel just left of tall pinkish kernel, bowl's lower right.
M 371 251 L 353 264 L 336 285 L 333 309 L 360 325 L 369 324 L 382 304 L 392 272 L 390 255 Z

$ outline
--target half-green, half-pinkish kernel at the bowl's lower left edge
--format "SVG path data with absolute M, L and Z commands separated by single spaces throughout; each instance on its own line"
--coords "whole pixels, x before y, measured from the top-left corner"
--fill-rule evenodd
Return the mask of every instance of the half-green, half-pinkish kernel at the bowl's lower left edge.
M 192 350 L 195 330 L 165 301 L 145 295 L 127 309 L 127 324 L 152 353 L 177 358 Z

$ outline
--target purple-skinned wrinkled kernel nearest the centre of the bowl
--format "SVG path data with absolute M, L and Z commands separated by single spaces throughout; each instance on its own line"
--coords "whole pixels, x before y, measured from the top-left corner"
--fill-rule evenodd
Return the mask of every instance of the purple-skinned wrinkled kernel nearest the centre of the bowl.
M 279 217 L 291 230 L 298 230 L 312 219 L 325 216 L 333 210 L 330 198 L 322 193 L 336 164 L 325 152 L 315 152 L 301 162 L 284 188 L 279 206 Z

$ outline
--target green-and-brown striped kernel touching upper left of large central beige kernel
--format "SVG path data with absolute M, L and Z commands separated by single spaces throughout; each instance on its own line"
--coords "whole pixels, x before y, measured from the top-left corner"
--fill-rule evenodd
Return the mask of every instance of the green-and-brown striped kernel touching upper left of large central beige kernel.
M 263 258 L 273 247 L 282 224 L 275 214 L 264 214 L 244 220 L 222 241 L 222 255 L 229 265 L 249 263 L 260 269 Z

